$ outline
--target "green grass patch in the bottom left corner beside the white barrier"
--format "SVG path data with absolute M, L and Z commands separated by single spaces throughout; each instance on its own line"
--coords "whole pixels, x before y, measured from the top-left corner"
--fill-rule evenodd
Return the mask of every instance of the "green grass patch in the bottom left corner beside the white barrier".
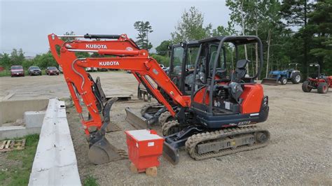
M 0 156 L 0 185 L 27 185 L 39 141 L 38 134 L 25 136 L 25 149 Z

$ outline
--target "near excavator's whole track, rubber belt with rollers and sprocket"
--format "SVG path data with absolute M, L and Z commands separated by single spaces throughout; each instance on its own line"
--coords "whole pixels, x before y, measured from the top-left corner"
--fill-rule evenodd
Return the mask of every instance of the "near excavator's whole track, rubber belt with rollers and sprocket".
M 270 132 L 256 126 L 233 127 L 195 134 L 186 141 L 186 151 L 201 160 L 263 148 L 270 141 Z

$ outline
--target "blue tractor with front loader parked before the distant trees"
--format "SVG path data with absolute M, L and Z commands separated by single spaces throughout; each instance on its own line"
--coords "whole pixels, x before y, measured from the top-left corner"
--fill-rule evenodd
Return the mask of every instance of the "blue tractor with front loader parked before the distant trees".
M 297 63 L 288 64 L 289 69 L 284 71 L 270 71 L 268 78 L 263 78 L 261 84 L 264 85 L 279 85 L 279 82 L 282 85 L 285 85 L 287 82 L 291 81 L 293 84 L 298 84 L 302 80 L 302 75 L 298 71 Z

